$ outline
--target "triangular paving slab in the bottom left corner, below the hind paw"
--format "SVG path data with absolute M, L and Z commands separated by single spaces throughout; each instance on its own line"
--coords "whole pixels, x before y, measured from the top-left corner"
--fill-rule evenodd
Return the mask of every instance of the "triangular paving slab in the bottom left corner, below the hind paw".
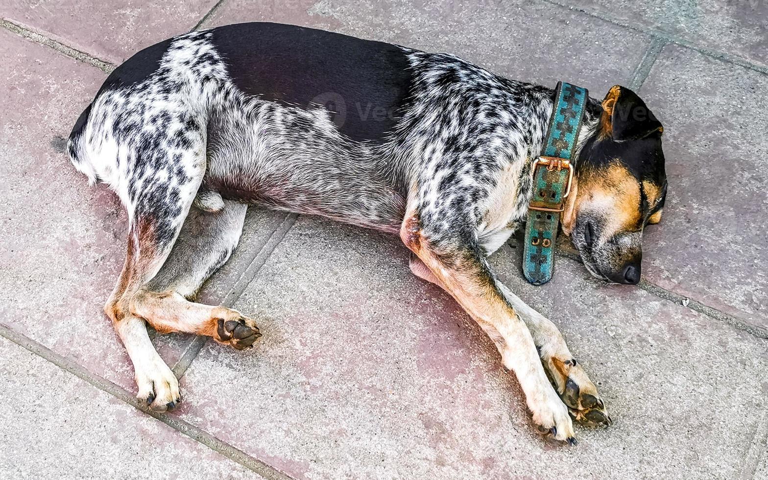
M 0 338 L 0 477 L 261 478 Z

